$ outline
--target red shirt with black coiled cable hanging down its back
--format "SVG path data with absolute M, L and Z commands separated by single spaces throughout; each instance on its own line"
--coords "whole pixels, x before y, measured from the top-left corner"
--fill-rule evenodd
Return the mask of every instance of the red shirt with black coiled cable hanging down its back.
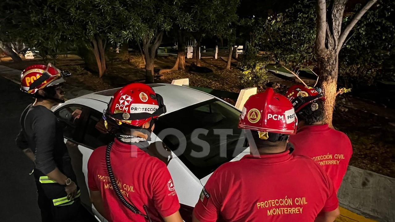
M 109 221 L 146 222 L 141 215 L 126 208 L 112 190 L 105 164 L 105 149 L 99 147 L 92 152 L 88 161 L 88 186 L 100 190 Z M 152 157 L 135 145 L 121 143 L 115 139 L 111 148 L 111 166 L 117 184 L 126 200 L 145 214 L 148 208 L 153 221 L 177 212 L 180 203 L 166 164 Z

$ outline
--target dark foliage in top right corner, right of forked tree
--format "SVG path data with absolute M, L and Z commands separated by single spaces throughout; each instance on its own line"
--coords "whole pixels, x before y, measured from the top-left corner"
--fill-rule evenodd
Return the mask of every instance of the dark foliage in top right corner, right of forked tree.
M 361 8 L 357 5 L 354 11 Z M 394 81 L 395 2 L 383 0 L 355 25 L 339 54 L 339 79 L 345 87 Z M 346 24 L 354 13 L 344 17 Z

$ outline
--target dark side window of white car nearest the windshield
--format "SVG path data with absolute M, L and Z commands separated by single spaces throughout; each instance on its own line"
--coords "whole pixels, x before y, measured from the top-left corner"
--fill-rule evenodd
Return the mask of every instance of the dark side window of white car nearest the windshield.
M 107 145 L 113 140 L 114 137 L 111 134 L 107 134 L 102 113 L 90 109 L 86 124 L 85 134 L 82 139 L 83 145 L 96 149 L 97 147 Z

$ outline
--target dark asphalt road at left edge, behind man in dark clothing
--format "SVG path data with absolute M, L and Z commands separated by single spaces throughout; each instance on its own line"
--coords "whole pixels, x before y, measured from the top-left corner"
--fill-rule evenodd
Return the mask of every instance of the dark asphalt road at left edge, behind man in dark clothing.
M 34 99 L 19 85 L 0 77 L 0 221 L 40 222 L 34 165 L 15 145 L 19 117 Z M 92 220 L 93 221 L 93 220 Z

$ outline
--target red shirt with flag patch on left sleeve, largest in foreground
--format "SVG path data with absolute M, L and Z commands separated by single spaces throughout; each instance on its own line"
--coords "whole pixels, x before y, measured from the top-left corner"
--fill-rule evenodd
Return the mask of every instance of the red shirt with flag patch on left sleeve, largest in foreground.
M 200 222 L 314 221 L 339 203 L 325 171 L 288 151 L 220 166 L 204 186 L 194 215 Z

